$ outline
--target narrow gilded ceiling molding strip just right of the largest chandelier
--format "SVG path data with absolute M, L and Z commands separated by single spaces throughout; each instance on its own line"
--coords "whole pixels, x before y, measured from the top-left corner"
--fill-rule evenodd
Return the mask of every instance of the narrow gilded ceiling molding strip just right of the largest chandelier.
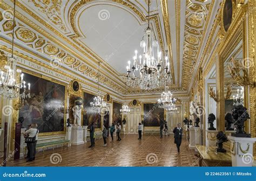
M 171 65 L 171 73 L 172 73 L 172 83 L 175 84 L 173 58 L 172 58 L 172 43 L 171 43 L 171 33 L 170 33 L 170 25 L 169 25 L 167 0 L 161 0 L 161 7 L 162 7 L 162 12 L 163 12 L 164 29 L 165 29 L 167 46 L 168 46 L 168 53 L 169 53 L 169 58 L 171 61 L 170 65 Z M 178 66 L 178 70 L 179 70 L 179 66 Z M 179 76 L 179 74 L 177 74 L 177 75 Z

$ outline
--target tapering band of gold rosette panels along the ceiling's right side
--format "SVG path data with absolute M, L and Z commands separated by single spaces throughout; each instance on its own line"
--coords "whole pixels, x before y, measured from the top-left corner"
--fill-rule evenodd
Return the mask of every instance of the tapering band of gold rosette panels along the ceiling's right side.
M 188 88 L 196 68 L 200 46 L 203 42 L 208 15 L 211 14 L 214 1 L 186 1 L 186 24 L 184 40 L 184 57 L 182 65 L 181 87 Z

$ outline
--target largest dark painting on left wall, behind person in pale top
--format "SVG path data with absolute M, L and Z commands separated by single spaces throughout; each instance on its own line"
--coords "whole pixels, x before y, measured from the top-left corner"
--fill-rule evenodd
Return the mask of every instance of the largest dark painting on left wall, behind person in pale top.
M 39 133 L 64 131 L 65 86 L 24 73 L 31 85 L 31 98 L 23 101 L 18 117 L 24 117 L 22 127 L 37 123 Z

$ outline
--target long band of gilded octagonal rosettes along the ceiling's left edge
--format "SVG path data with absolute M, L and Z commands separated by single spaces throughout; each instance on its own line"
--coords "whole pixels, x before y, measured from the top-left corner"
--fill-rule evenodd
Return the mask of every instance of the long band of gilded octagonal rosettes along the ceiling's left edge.
M 0 25 L 1 24 L 3 27 L 2 32 L 8 34 L 9 31 L 12 30 L 11 21 L 2 19 L 0 21 Z M 0 30 L 2 27 L 0 26 Z M 45 53 L 49 55 L 49 57 L 51 55 L 57 56 L 60 59 L 60 66 L 62 63 L 64 63 L 72 68 L 75 73 L 80 72 L 86 76 L 91 77 L 92 79 L 97 80 L 98 73 L 95 72 L 95 69 L 90 68 L 84 64 L 83 61 L 74 58 L 72 55 L 66 54 L 64 50 L 60 50 L 57 46 L 51 44 L 48 40 L 29 30 L 22 23 L 16 23 L 15 36 L 17 39 L 23 41 L 25 45 L 30 46 L 41 53 Z M 109 76 L 106 77 L 101 74 L 100 82 L 102 82 L 107 87 L 112 88 L 114 91 L 117 91 L 118 93 L 124 92 L 124 88 L 117 84 L 114 80 L 111 80 Z

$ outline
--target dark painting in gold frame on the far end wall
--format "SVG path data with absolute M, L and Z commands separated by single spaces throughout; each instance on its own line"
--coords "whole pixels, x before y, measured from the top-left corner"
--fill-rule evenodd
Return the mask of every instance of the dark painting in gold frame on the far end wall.
M 155 103 L 144 103 L 144 126 L 159 127 L 164 122 L 164 109 Z

